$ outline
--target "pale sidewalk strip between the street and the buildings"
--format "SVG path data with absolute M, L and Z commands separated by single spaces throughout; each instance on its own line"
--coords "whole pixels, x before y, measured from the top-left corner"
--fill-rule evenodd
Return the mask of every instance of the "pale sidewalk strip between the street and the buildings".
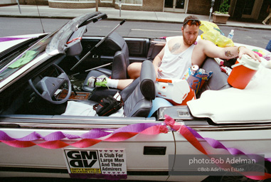
M 20 5 L 21 14 L 18 5 L 0 6 L 0 17 L 28 17 L 28 18 L 74 18 L 81 14 L 96 11 L 92 9 L 54 9 L 49 6 Z M 120 20 L 126 19 L 130 21 L 156 21 L 168 23 L 183 23 L 184 18 L 189 14 L 172 13 L 172 12 L 155 12 L 155 11 L 121 11 L 119 17 L 119 9 L 99 7 L 102 13 L 107 14 L 107 19 Z M 40 16 L 39 16 L 40 14 Z M 209 16 L 196 15 L 201 21 L 209 21 Z M 211 17 L 212 21 L 212 17 Z M 263 25 L 262 23 L 248 23 L 240 21 L 228 21 L 227 24 L 219 24 L 219 26 L 232 26 L 241 28 L 261 28 L 270 29 L 271 25 Z

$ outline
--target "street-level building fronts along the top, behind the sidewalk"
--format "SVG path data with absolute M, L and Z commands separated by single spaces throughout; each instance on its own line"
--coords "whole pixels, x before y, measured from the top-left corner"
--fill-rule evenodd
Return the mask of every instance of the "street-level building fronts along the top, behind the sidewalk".
M 15 0 L 4 0 L 14 4 Z M 10 3 L 9 3 L 10 1 Z M 223 0 L 215 0 L 213 11 L 218 11 Z M 52 8 L 94 8 L 96 0 L 19 0 L 20 4 L 47 5 Z M 170 11 L 184 14 L 209 15 L 211 0 L 97 0 L 100 7 L 112 7 L 133 11 Z M 230 18 L 233 20 L 262 21 L 267 16 L 270 0 L 229 0 Z M 1 3 L 0 3 L 1 4 Z

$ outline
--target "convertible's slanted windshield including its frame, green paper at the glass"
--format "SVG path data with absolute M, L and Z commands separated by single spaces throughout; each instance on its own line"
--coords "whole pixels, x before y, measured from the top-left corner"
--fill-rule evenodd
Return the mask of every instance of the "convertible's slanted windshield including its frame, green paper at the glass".
M 24 45 L 23 48 L 6 56 L 6 58 L 0 60 L 0 82 L 5 80 L 6 77 L 9 77 L 9 75 L 15 73 L 24 65 L 30 63 L 44 51 L 46 51 L 48 55 L 65 53 L 65 50 L 67 49 L 65 47 L 66 42 L 74 31 L 78 30 L 80 26 L 85 26 L 92 21 L 98 21 L 100 18 L 107 18 L 107 16 L 106 14 L 95 12 L 73 18 L 73 20 L 66 23 L 62 28 L 58 29 L 58 31 L 46 36 L 34 45 L 30 45 L 30 47 L 29 45 Z

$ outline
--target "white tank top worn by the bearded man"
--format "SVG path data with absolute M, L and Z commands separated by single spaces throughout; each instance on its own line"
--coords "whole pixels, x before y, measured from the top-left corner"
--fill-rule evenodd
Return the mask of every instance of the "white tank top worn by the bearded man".
M 162 79 L 172 79 L 172 78 L 181 78 L 186 74 L 186 70 L 191 67 L 191 59 L 193 48 L 195 44 L 191 45 L 189 48 L 184 50 L 181 53 L 173 54 L 169 51 L 169 41 L 174 37 L 166 38 L 166 45 L 164 50 L 164 56 L 161 60 L 161 72 L 158 72 L 158 78 Z M 198 38 L 197 38 L 198 41 Z

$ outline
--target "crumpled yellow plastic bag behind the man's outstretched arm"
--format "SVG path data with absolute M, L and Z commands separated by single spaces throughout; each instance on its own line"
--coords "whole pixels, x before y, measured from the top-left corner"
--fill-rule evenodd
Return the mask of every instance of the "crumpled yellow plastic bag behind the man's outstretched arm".
M 203 31 L 201 38 L 213 42 L 218 45 L 218 47 L 224 48 L 234 46 L 233 40 L 225 37 L 224 33 L 220 31 L 215 23 L 201 21 L 201 26 L 199 28 Z

